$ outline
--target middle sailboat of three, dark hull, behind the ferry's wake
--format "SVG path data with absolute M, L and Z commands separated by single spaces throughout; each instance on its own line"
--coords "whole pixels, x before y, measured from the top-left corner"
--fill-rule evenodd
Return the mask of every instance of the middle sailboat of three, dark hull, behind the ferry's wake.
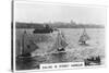
M 58 32 L 56 42 L 52 47 L 52 49 L 56 49 L 56 51 L 53 53 L 65 52 L 65 47 L 68 45 L 69 44 L 65 40 L 64 34 L 61 32 Z

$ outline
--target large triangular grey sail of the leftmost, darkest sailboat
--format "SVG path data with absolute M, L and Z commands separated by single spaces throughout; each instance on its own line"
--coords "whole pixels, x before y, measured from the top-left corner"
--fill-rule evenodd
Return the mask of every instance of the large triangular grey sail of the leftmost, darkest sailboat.
M 24 31 L 24 33 L 22 35 L 21 44 L 22 44 L 21 54 L 31 53 L 32 51 L 36 50 L 36 48 L 37 48 L 36 45 L 34 44 L 34 41 L 27 35 L 26 31 Z

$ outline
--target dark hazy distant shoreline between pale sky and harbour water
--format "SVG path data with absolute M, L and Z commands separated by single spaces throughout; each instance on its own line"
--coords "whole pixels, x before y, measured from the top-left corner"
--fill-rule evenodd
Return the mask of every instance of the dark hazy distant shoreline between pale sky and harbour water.
M 16 22 L 16 28 L 44 28 L 44 25 L 57 28 L 105 28 L 102 25 L 96 24 L 76 24 L 76 23 L 21 23 Z

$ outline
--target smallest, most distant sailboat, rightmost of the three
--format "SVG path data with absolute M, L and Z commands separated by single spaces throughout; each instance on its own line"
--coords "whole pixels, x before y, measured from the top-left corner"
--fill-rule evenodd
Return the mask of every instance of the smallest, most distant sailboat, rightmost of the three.
M 89 40 L 89 39 L 90 38 L 87 35 L 86 29 L 84 28 L 83 34 L 81 35 L 80 40 L 78 40 L 80 45 L 87 46 L 86 41 Z

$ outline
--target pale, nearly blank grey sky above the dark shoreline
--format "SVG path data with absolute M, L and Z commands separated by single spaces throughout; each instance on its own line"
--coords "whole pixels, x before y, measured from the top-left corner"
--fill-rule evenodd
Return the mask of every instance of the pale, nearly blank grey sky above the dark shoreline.
M 56 3 L 15 2 L 15 22 L 45 23 L 65 22 L 106 24 L 104 7 L 83 7 Z

